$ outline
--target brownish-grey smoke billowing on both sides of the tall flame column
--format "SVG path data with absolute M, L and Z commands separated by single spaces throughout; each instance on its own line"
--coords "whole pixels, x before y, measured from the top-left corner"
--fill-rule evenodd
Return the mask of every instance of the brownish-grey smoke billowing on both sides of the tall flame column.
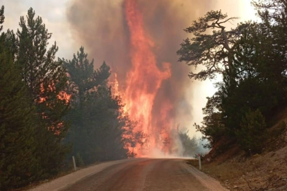
M 163 62 L 171 64 L 172 75 L 163 81 L 153 105 L 153 116 L 160 115 L 166 100 L 173 106 L 168 118 L 174 125 L 189 124 L 192 105 L 185 91 L 192 88 L 187 76 L 191 70 L 177 62 L 177 50 L 187 35 L 183 29 L 211 10 L 216 1 L 210 0 L 137 0 L 144 16 L 144 29 L 153 40 L 153 53 L 158 68 Z M 124 15 L 124 0 L 74 0 L 67 10 L 67 18 L 74 39 L 81 42 L 95 67 L 105 62 L 117 72 L 119 84 L 124 85 L 131 69 L 129 28 Z M 165 100 L 163 102 L 162 100 Z M 160 118 L 160 117 L 159 117 Z

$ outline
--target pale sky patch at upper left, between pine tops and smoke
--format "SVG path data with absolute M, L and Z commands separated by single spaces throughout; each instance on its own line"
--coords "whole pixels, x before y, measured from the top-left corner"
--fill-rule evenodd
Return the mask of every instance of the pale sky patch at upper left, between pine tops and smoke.
M 66 21 L 66 8 L 71 0 L 0 0 L 5 6 L 4 30 L 10 28 L 16 32 L 21 16 L 26 16 L 30 7 L 36 16 L 41 16 L 49 33 L 52 33 L 50 44 L 54 41 L 59 46 L 58 57 L 71 58 L 79 45 L 69 30 Z

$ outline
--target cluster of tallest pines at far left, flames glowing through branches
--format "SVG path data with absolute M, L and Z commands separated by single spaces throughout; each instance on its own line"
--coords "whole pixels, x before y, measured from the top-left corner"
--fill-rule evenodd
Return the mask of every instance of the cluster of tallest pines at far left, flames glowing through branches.
M 47 49 L 51 34 L 32 8 L 20 27 L 0 39 L 1 190 L 55 175 L 68 151 L 61 143 L 69 104 L 63 99 L 66 74 L 55 61 L 58 48 Z

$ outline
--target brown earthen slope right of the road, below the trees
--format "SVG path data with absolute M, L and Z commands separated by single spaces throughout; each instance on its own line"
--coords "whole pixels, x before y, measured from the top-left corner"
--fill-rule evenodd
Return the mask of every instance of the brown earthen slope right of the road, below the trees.
M 202 171 L 221 180 L 229 190 L 287 190 L 286 114 L 286 110 L 282 112 L 279 117 L 283 119 L 269 129 L 262 154 L 247 153 L 236 143 L 221 140 L 203 158 Z M 221 151 L 228 144 L 229 148 Z M 189 163 L 198 167 L 197 161 Z

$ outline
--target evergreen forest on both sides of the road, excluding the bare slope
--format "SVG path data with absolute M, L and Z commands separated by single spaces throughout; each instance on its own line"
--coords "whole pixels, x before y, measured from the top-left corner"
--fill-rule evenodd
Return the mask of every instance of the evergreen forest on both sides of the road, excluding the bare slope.
M 209 149 L 225 141 L 221 151 L 238 144 L 259 154 L 280 134 L 270 127 L 287 106 L 287 1 L 260 0 L 253 6 L 260 21 L 235 28 L 228 23 L 238 18 L 209 11 L 185 29 L 191 37 L 177 51 L 179 62 L 192 66 L 190 79 L 222 79 L 207 98 L 202 124 L 194 124 Z M 50 44 L 52 33 L 33 8 L 21 16 L 16 32 L 4 31 L 4 21 L 2 6 L 0 190 L 69 171 L 71 156 L 79 167 L 135 157 L 129 147 L 143 144 L 148 135 L 134 131 L 136 121 L 113 95 L 109 63 L 95 69 L 84 47 L 70 59 L 57 58 L 59 47 Z M 285 128 L 281 123 L 279 131 Z M 187 129 L 176 133 L 185 156 L 198 152 Z

